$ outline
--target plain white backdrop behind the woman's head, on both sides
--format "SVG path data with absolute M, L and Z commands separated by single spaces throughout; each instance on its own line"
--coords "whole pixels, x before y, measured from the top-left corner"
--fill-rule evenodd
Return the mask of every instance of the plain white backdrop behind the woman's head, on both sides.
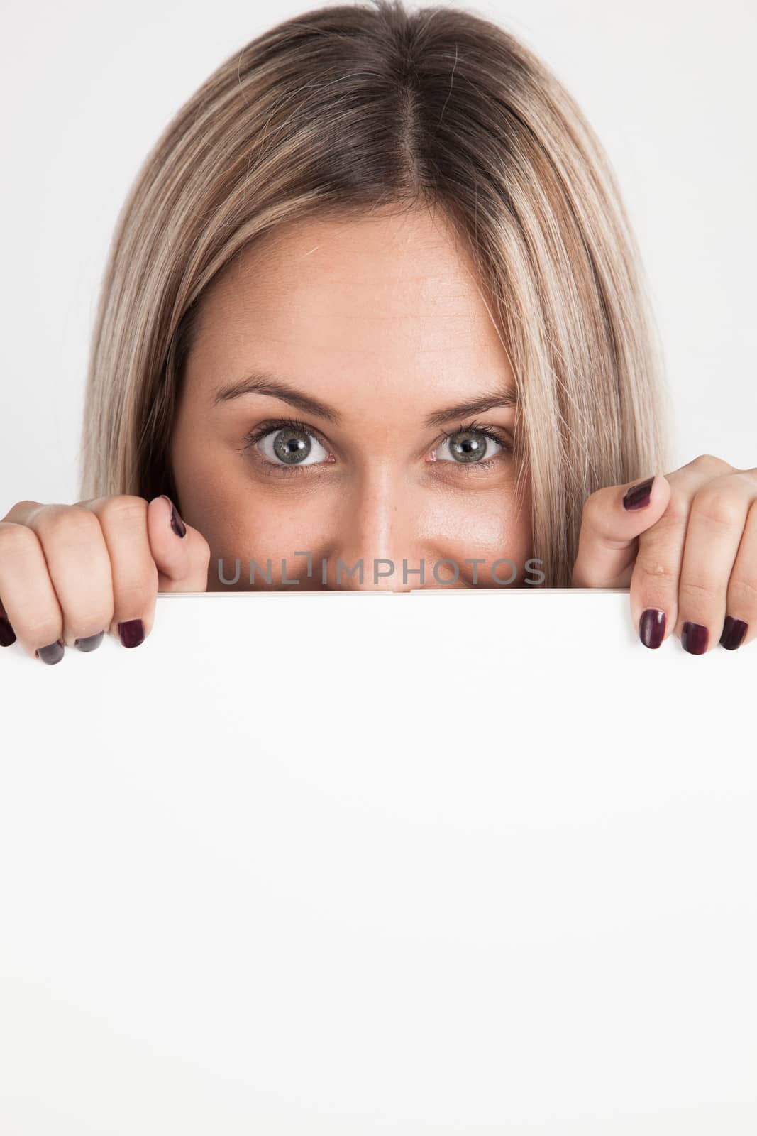
M 100 279 L 148 150 L 227 56 L 313 7 L 5 5 L 0 516 L 26 498 L 78 498 Z M 674 468 L 699 453 L 757 466 L 757 8 L 520 0 L 468 9 L 556 70 L 609 153 L 663 337 Z

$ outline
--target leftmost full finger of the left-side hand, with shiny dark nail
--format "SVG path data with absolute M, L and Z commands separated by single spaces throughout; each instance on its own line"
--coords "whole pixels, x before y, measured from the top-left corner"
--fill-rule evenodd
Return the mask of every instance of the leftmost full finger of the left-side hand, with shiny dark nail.
M 10 643 L 17 638 L 32 659 L 41 651 L 44 662 L 60 662 L 64 615 L 42 545 L 26 525 L 8 520 L 0 521 L 0 595 L 5 623 L 14 635 Z M 3 636 L 10 638 L 5 628 Z

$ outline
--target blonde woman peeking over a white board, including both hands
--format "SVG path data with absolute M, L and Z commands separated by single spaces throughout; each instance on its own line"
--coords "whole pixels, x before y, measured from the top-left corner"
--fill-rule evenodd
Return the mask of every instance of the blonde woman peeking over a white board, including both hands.
M 0 523 L 0 642 L 136 646 L 158 591 L 296 582 L 630 587 L 646 646 L 737 648 L 757 469 L 664 473 L 667 414 L 613 173 L 544 64 L 453 8 L 319 8 L 140 172 L 83 499 Z

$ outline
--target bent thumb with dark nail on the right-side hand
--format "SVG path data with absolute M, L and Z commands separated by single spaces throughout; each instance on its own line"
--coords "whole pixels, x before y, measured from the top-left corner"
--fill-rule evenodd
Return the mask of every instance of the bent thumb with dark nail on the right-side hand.
M 670 498 L 670 482 L 662 474 L 587 498 L 571 586 L 628 587 L 637 538 L 659 520 Z

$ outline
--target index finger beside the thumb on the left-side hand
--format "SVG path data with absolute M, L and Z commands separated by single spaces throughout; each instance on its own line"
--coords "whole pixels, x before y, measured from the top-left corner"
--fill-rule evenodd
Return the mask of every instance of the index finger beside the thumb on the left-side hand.
M 128 648 L 152 630 L 158 595 L 158 568 L 148 537 L 148 502 L 123 494 L 82 503 L 102 529 L 112 577 L 113 607 L 109 634 Z

